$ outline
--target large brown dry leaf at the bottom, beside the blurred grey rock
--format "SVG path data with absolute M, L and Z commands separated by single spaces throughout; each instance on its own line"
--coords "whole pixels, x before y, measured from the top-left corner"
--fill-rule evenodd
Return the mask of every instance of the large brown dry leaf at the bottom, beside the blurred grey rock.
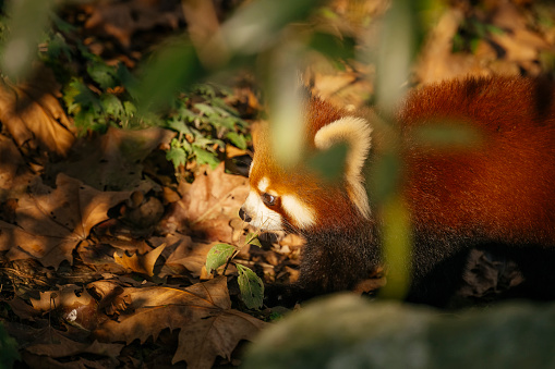
M 168 287 L 125 288 L 131 300 L 120 322 L 105 322 L 95 332 L 101 341 L 158 337 L 160 331 L 180 329 L 172 364 L 185 360 L 188 368 L 212 368 L 216 356 L 230 359 L 241 340 L 252 340 L 267 323 L 231 309 L 226 278 L 197 283 L 184 290 Z

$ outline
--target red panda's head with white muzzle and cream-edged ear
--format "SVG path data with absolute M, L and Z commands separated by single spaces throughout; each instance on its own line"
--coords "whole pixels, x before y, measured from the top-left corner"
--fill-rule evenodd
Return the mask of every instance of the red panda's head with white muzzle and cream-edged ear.
M 353 219 L 370 218 L 362 169 L 371 147 L 366 120 L 311 98 L 303 113 L 304 155 L 293 168 L 275 160 L 263 125 L 254 134 L 254 158 L 250 170 L 251 190 L 241 207 L 241 218 L 255 227 L 278 231 L 315 231 L 345 227 Z M 307 159 L 333 145 L 348 146 L 342 176 L 329 182 L 307 164 Z

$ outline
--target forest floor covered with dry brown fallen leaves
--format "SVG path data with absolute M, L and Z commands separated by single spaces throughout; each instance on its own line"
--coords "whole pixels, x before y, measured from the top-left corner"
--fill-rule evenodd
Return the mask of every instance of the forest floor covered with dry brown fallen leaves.
M 240 2 L 215 1 L 218 17 Z M 330 5 L 340 22 L 352 21 L 350 3 Z M 381 15 L 379 3 L 369 1 L 362 11 Z M 437 16 L 412 84 L 553 73 L 554 5 L 456 3 Z M 89 52 L 132 71 L 154 46 L 186 29 L 180 1 L 113 0 L 61 16 Z M 369 74 L 372 66 L 361 63 L 307 72 L 324 98 L 354 107 L 372 95 Z M 12 347 L 0 361 L 17 357 L 17 367 L 31 368 L 239 365 L 245 342 L 282 310 L 246 308 L 234 265 L 225 276 L 207 273 L 207 253 L 236 245 L 236 261 L 272 284 L 297 280 L 302 248 L 301 238 L 285 234 L 241 247 L 248 230 L 238 210 L 249 183 L 237 165 L 250 148 L 227 150 L 215 169 L 176 170 L 166 159 L 174 131 L 112 126 L 76 135 L 59 76 L 48 67 L 39 75 L 0 86 L 0 347 Z M 254 122 L 262 110 L 255 89 L 237 83 L 232 90 L 227 101 Z

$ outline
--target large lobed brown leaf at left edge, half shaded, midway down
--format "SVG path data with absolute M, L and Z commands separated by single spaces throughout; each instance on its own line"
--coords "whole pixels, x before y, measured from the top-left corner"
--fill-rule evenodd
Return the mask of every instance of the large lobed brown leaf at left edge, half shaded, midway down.
M 129 196 L 96 190 L 64 174 L 58 175 L 56 189 L 37 181 L 19 199 L 15 224 L 0 221 L 0 250 L 8 250 L 9 260 L 36 258 L 45 267 L 72 262 L 73 249 L 91 229 Z

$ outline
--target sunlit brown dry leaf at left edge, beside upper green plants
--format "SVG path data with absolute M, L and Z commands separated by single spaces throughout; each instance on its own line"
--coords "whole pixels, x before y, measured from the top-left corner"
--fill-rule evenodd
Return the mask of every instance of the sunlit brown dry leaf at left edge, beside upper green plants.
M 57 89 L 52 73 L 46 69 L 41 71 L 40 86 L 0 82 L 0 121 L 19 146 L 68 153 L 75 142 L 74 127 L 52 95 Z

